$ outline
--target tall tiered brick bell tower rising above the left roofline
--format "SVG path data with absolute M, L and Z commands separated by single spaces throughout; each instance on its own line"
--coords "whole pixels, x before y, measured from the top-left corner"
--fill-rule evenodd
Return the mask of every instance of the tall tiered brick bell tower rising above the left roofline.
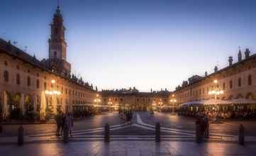
M 49 59 L 47 66 L 52 71 L 59 74 L 69 74 L 71 65 L 67 62 L 67 43 L 65 41 L 65 26 L 63 25 L 60 6 L 57 6 L 56 12 L 50 24 Z

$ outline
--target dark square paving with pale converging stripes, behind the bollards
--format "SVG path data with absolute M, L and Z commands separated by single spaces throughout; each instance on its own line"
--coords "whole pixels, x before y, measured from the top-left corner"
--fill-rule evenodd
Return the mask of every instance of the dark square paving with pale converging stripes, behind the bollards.
M 161 138 L 168 141 L 194 141 L 194 119 L 183 116 L 170 116 L 165 113 L 155 113 L 150 115 L 147 112 L 133 113 L 132 124 L 123 123 L 116 113 L 108 113 L 94 118 L 87 118 L 83 121 L 77 121 L 74 125 L 72 137 L 70 141 L 99 141 L 104 140 L 104 125 L 110 123 L 111 140 L 155 140 L 155 123 L 161 123 Z M 231 124 L 233 122 L 233 124 Z M 118 124 L 121 123 L 121 124 Z M 256 135 L 250 126 L 255 126 L 254 121 L 244 121 L 245 125 L 245 141 L 247 143 L 256 143 Z M 35 125 L 41 126 L 42 125 Z M 44 125 L 43 125 L 44 126 Z M 45 125 L 42 131 L 36 131 L 36 128 L 31 128 L 32 132 L 26 132 L 26 143 L 45 143 L 45 142 L 60 142 L 62 138 L 55 136 L 55 126 L 48 129 Z M 226 142 L 238 143 L 238 134 L 235 121 L 228 121 L 222 124 L 211 124 L 210 138 L 208 142 Z M 25 127 L 26 130 L 26 127 Z M 17 141 L 16 130 L 12 135 L 1 134 L 0 144 L 5 143 L 15 144 Z

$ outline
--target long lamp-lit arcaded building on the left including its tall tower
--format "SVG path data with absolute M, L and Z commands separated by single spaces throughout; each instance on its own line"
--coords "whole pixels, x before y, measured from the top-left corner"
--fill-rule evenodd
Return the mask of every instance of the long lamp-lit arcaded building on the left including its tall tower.
M 58 7 L 49 42 L 49 58 L 35 56 L 0 40 L 0 115 L 3 118 L 40 116 L 92 104 L 97 91 L 72 74 L 67 62 L 65 27 Z

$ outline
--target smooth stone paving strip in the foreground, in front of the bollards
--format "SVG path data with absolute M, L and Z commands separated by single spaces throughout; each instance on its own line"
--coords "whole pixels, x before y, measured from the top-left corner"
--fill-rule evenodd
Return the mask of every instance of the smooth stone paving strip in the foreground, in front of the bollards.
M 74 143 L 35 143 L 22 147 L 16 145 L 1 145 L 0 153 L 3 156 L 151 156 L 151 155 L 172 155 L 172 156 L 197 156 L 197 155 L 256 155 L 256 145 L 240 146 L 231 143 L 188 143 L 188 142 L 161 142 L 154 141 L 113 141 L 104 143 L 95 142 L 74 142 Z

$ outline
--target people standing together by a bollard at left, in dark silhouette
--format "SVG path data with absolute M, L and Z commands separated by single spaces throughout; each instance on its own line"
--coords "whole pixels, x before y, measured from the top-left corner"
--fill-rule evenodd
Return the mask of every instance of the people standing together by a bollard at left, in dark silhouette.
M 60 111 L 57 113 L 55 121 L 57 125 L 56 136 L 62 136 L 64 128 L 66 127 L 70 137 L 72 137 L 72 130 L 74 126 L 72 113 L 62 113 Z

